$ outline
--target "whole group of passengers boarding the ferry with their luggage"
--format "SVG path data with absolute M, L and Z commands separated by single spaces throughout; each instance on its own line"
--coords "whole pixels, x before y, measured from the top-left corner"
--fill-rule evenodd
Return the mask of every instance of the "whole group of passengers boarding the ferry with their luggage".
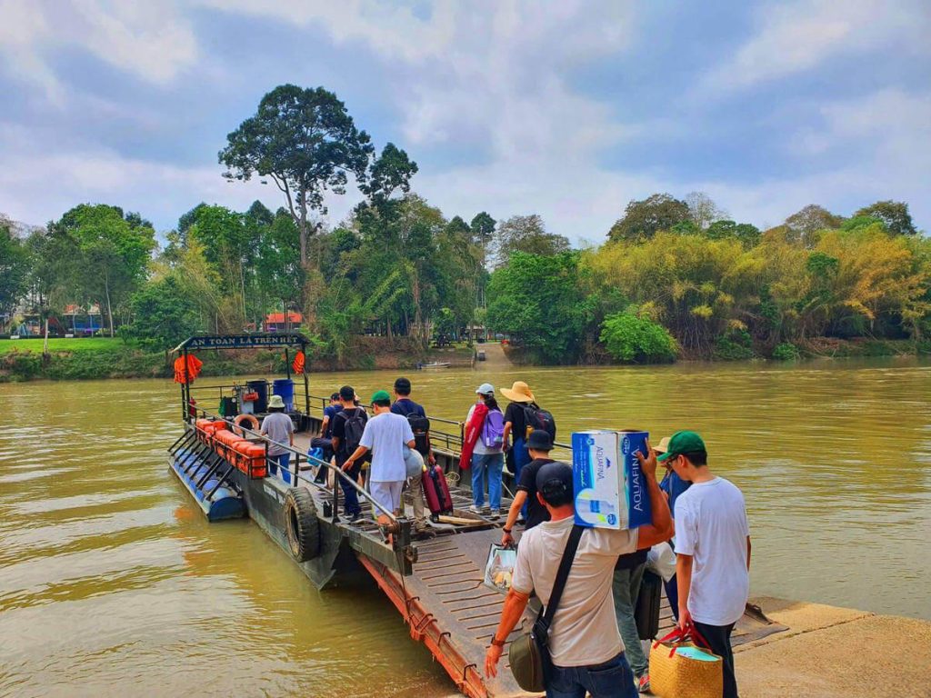
M 506 641 L 531 595 L 546 607 L 574 522 L 572 466 L 549 457 L 556 432 L 552 415 L 537 405 L 527 383 L 516 382 L 501 393 L 510 400 L 503 413 L 491 383 L 476 390 L 477 400 L 466 415 L 460 463 L 471 470 L 470 510 L 497 518 L 507 462 L 517 485 L 501 544 L 515 544 L 515 526 L 523 523 L 511 588 L 486 655 L 490 677 L 496 675 Z M 362 463 L 371 459 L 368 487 L 385 535 L 392 532 L 387 513 L 398 515 L 402 509 L 405 483 L 414 530 L 424 534 L 428 524 L 420 477 L 434 463 L 429 421 L 423 406 L 412 400 L 408 379 L 395 382 L 394 398 L 384 390 L 372 395 L 370 418 L 359 407 L 355 390 L 344 385 L 324 410 L 321 443 L 327 460 L 332 457 L 348 476 L 340 478 L 346 518 L 361 517 L 354 484 Z M 280 431 L 290 428 L 290 420 L 288 424 L 273 422 L 266 429 L 263 423 L 263 434 L 292 438 Z M 722 696 L 737 696 L 730 638 L 749 596 L 750 538 L 743 494 L 712 474 L 705 442 L 693 431 L 663 438 L 654 448 L 648 445 L 648 451 L 637 457 L 647 483 L 651 523 L 635 530 L 581 532 L 549 630 L 549 698 L 629 698 L 649 692 L 649 666 L 634 609 L 648 554 L 664 545 L 675 554 L 674 574 L 665 581 L 677 624 L 683 634 L 700 638 L 722 658 Z M 656 480 L 657 463 L 666 468 L 662 482 Z

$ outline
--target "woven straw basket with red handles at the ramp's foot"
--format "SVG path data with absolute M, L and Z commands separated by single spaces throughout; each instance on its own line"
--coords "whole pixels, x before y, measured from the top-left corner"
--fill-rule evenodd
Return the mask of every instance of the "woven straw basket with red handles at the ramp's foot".
M 686 633 L 685 635 L 688 635 Z M 650 649 L 650 691 L 659 698 L 721 698 L 723 692 L 722 659 L 703 662 L 682 656 L 679 647 L 699 647 L 678 631 Z M 702 651 L 708 652 L 705 648 Z

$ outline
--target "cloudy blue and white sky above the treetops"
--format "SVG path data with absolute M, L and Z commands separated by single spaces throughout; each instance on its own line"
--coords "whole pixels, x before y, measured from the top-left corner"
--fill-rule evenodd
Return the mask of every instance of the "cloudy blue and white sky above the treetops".
M 449 217 L 595 241 L 632 198 L 699 190 L 761 227 L 894 198 L 931 230 L 929 35 L 927 0 L 0 0 L 0 212 L 277 208 L 217 152 L 290 82 L 406 149 Z

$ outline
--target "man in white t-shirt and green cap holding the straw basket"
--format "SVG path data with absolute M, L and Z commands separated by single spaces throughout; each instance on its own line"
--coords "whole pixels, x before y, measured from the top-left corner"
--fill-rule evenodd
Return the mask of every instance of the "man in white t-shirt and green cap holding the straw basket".
M 679 625 L 695 629 L 723 659 L 723 698 L 737 698 L 731 631 L 749 597 L 750 533 L 744 495 L 708 468 L 708 450 L 695 432 L 676 432 L 662 463 L 692 487 L 676 500 L 676 579 Z

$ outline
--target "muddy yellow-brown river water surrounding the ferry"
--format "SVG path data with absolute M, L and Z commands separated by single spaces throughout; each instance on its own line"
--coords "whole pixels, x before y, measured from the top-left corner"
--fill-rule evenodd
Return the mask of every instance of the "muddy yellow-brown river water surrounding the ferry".
M 396 375 L 314 375 L 312 392 Z M 411 377 L 452 419 L 479 383 L 525 380 L 560 440 L 696 429 L 746 495 L 753 595 L 931 618 L 926 362 Z M 0 695 L 453 692 L 377 589 L 318 593 L 250 521 L 203 520 L 166 465 L 179 411 L 166 381 L 0 384 Z

